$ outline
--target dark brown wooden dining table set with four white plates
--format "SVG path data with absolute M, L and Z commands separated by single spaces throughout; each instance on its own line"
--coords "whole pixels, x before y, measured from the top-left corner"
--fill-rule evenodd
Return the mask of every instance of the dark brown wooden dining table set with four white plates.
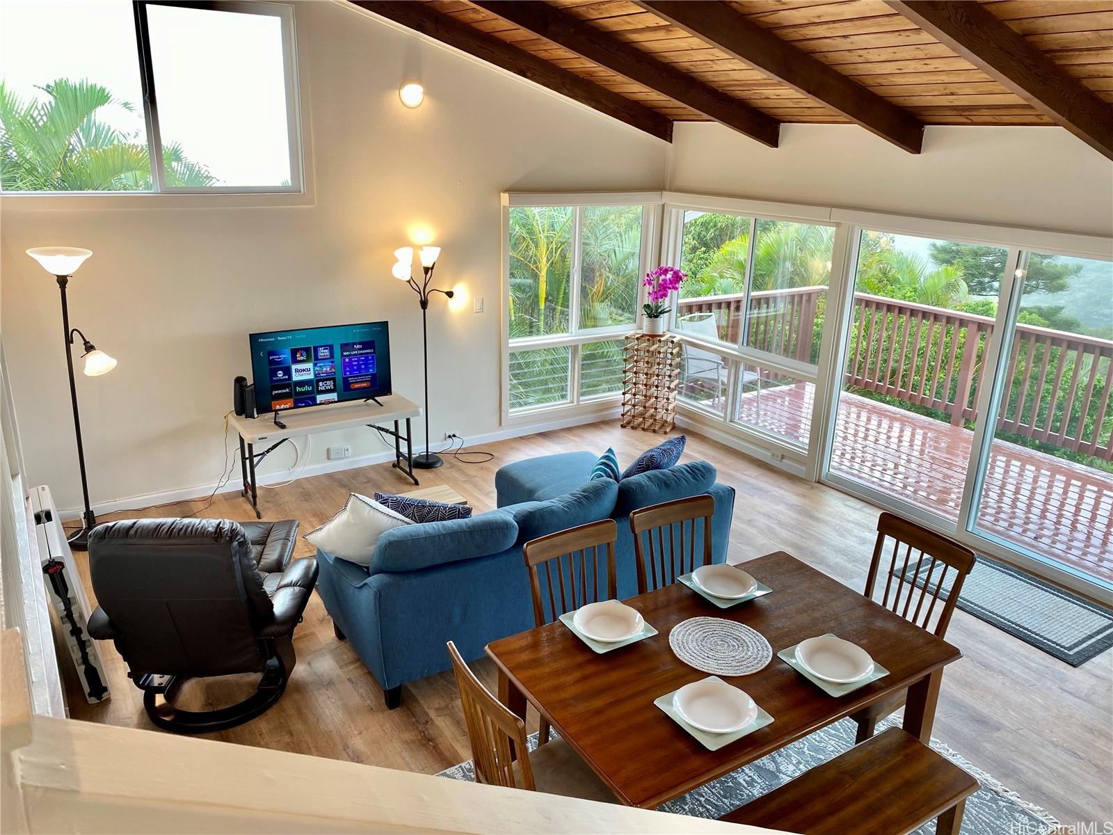
M 624 804 L 652 808 L 908 688 L 904 728 L 927 741 L 943 668 L 962 652 L 784 551 L 746 562 L 769 595 L 720 609 L 673 583 L 624 602 L 658 633 L 597 654 L 559 621 L 492 641 L 499 695 L 516 715 L 533 705 Z M 709 674 L 669 647 L 669 632 L 695 617 L 727 618 L 760 632 L 772 659 L 748 676 L 720 676 L 748 692 L 772 724 L 711 752 L 653 705 Z M 889 674 L 831 697 L 777 657 L 805 638 L 833 632 L 863 647 Z

